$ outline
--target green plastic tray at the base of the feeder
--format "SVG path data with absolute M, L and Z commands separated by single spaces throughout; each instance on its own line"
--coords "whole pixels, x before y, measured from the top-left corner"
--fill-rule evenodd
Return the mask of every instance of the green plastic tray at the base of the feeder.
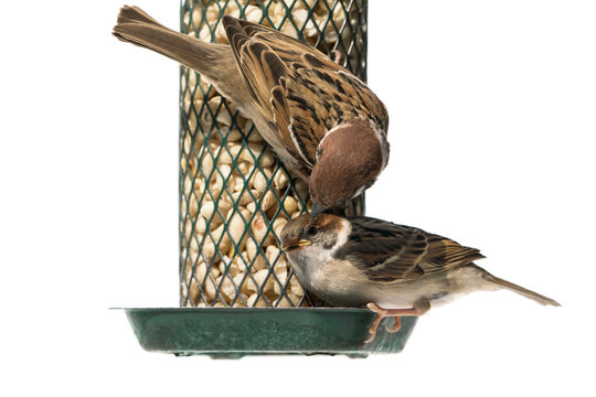
M 389 333 L 385 319 L 369 344 L 375 314 L 350 308 L 172 308 L 124 309 L 142 348 L 175 355 L 206 354 L 240 358 L 252 354 L 397 353 L 417 318 L 402 319 L 402 329 Z

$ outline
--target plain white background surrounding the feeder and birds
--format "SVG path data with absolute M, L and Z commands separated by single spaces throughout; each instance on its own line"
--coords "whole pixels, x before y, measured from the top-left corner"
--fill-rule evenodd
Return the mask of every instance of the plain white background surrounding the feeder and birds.
M 594 395 L 594 2 L 370 6 L 392 157 L 368 214 L 563 307 L 477 293 L 402 354 L 240 361 L 146 353 L 108 310 L 178 304 L 178 65 L 110 35 L 121 4 L 0 6 L 3 396 Z

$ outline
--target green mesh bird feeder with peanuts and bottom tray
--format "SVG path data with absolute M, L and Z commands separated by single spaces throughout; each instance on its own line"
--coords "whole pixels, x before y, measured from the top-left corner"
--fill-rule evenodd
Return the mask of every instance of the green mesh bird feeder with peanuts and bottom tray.
M 181 32 L 225 44 L 227 14 L 305 41 L 366 79 L 366 0 L 185 0 Z M 326 307 L 301 288 L 279 236 L 309 212 L 307 184 L 286 171 L 235 104 L 184 66 L 179 190 L 181 308 L 127 310 L 143 348 L 227 357 L 403 348 L 415 318 L 364 344 L 374 313 Z M 363 215 L 364 196 L 341 211 Z

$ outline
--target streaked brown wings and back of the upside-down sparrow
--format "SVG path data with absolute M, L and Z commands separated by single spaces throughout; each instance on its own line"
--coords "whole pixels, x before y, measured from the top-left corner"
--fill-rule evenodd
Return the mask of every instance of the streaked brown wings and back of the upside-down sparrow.
M 337 124 L 375 117 L 385 131 L 384 105 L 345 68 L 283 33 L 224 17 L 230 45 L 262 115 L 290 154 L 311 169 L 319 142 Z M 372 115 L 372 116 L 371 116 Z

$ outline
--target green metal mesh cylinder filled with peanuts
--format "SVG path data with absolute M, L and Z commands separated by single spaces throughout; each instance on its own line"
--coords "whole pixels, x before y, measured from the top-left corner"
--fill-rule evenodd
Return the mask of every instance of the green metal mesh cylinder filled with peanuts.
M 366 77 L 366 0 L 185 0 L 181 31 L 227 43 L 225 14 L 339 53 L 343 66 Z M 288 219 L 310 210 L 307 184 L 196 72 L 181 67 L 180 87 L 180 304 L 322 304 L 302 290 L 277 237 Z M 343 214 L 363 211 L 360 196 Z

